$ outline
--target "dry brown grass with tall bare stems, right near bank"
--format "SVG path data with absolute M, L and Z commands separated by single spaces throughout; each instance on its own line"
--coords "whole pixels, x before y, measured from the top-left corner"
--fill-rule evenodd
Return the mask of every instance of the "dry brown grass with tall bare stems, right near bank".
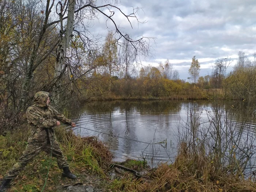
M 139 192 L 256 191 L 256 135 L 246 127 L 251 116 L 243 112 L 245 118 L 235 120 L 233 112 L 219 102 L 213 101 L 211 109 L 199 108 L 194 102 L 188 106 L 187 121 L 179 122 L 174 163 L 162 164 L 140 180 L 132 175 L 114 180 L 110 188 Z

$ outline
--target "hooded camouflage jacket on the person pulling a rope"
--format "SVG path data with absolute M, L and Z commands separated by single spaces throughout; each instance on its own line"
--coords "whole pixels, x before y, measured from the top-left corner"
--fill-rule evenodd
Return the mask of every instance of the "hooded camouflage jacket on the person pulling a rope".
M 56 140 L 53 128 L 58 121 L 71 125 L 71 120 L 57 112 L 47 104 L 48 92 L 39 91 L 35 94 L 35 104 L 27 109 L 27 121 L 32 127 L 28 143 L 43 145 Z

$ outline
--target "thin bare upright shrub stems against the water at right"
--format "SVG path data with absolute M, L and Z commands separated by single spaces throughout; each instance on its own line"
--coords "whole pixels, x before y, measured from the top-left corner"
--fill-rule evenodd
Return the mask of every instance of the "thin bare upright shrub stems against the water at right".
M 206 121 L 199 120 L 203 112 Z M 187 145 L 186 151 L 195 158 L 197 165 L 200 165 L 197 159 L 202 157 L 211 162 L 214 172 L 210 176 L 213 179 L 218 176 L 244 179 L 253 171 L 256 135 L 247 127 L 250 115 L 237 120 L 233 114 L 219 102 L 212 102 L 210 109 L 199 109 L 195 103 L 188 111 L 189 121 L 179 131 L 180 146 Z

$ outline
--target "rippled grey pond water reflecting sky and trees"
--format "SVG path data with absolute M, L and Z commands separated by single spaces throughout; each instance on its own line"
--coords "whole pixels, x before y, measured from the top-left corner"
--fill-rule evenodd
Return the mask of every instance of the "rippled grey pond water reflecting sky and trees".
M 219 103 L 220 108 L 230 111 L 231 123 L 237 126 L 246 122 L 246 130 L 255 131 L 255 108 L 254 115 L 248 117 L 241 110 L 234 110 L 238 105 L 241 107 L 236 101 Z M 209 113 L 214 110 L 209 101 L 88 102 L 81 107 L 75 132 L 98 136 L 110 147 L 114 161 L 144 157 L 154 167 L 159 162 L 174 161 L 179 132 L 191 121 L 192 109 L 197 112 L 197 124 L 209 124 Z M 242 120 L 244 117 L 248 119 Z

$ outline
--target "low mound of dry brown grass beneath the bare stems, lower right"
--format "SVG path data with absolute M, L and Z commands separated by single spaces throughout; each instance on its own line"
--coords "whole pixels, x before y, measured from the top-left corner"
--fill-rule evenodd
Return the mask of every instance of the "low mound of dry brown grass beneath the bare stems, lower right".
M 255 181 L 227 174 L 217 176 L 213 167 L 212 161 L 208 161 L 204 156 L 189 155 L 185 148 L 181 147 L 172 165 L 161 164 L 140 180 L 132 178 L 129 174 L 120 180 L 112 181 L 110 188 L 125 192 L 256 191 Z

